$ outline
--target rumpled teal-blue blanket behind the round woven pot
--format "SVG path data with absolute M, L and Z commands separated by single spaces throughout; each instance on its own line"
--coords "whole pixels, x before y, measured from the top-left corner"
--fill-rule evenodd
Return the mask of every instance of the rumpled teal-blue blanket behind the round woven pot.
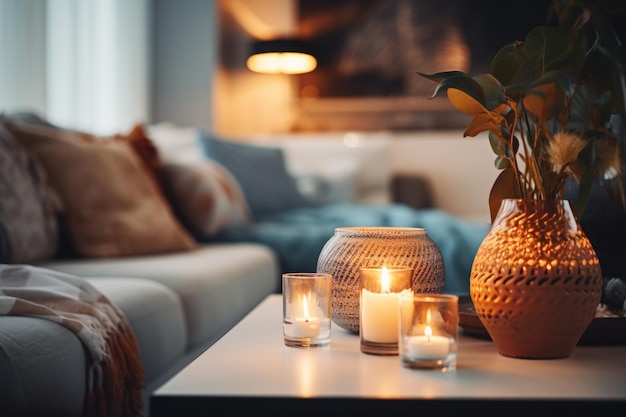
M 324 244 L 337 227 L 421 227 L 439 246 L 446 268 L 444 291 L 469 294 L 469 276 L 489 225 L 473 223 L 441 210 L 416 210 L 401 204 L 336 203 L 279 211 L 248 225 L 223 229 L 223 242 L 259 242 L 272 247 L 283 272 L 314 272 Z

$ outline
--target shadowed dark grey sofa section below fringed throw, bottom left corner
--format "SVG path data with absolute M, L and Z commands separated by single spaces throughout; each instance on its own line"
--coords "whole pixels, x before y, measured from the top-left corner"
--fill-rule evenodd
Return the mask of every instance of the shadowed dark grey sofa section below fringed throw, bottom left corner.
M 81 415 L 88 356 L 76 335 L 33 317 L 0 316 L 0 328 L 0 415 Z

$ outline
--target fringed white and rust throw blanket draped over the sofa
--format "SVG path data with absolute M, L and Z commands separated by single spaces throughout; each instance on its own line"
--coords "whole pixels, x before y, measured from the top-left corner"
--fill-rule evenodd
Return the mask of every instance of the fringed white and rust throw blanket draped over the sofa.
M 89 282 L 0 264 L 0 314 L 51 320 L 82 341 L 92 358 L 86 415 L 141 416 L 144 369 L 135 335 L 124 314 Z

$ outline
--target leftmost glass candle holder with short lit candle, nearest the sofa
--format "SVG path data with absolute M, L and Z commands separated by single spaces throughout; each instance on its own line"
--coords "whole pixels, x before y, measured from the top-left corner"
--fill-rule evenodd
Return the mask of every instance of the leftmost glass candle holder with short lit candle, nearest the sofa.
M 287 273 L 283 285 L 283 338 L 291 347 L 330 343 L 332 275 Z

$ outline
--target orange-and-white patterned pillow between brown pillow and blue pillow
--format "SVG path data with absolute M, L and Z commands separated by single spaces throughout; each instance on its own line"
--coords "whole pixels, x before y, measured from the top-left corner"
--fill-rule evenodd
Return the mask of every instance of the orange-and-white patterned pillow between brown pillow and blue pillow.
M 197 238 L 210 238 L 226 226 L 250 221 L 241 187 L 219 163 L 165 162 L 159 173 L 175 213 Z

